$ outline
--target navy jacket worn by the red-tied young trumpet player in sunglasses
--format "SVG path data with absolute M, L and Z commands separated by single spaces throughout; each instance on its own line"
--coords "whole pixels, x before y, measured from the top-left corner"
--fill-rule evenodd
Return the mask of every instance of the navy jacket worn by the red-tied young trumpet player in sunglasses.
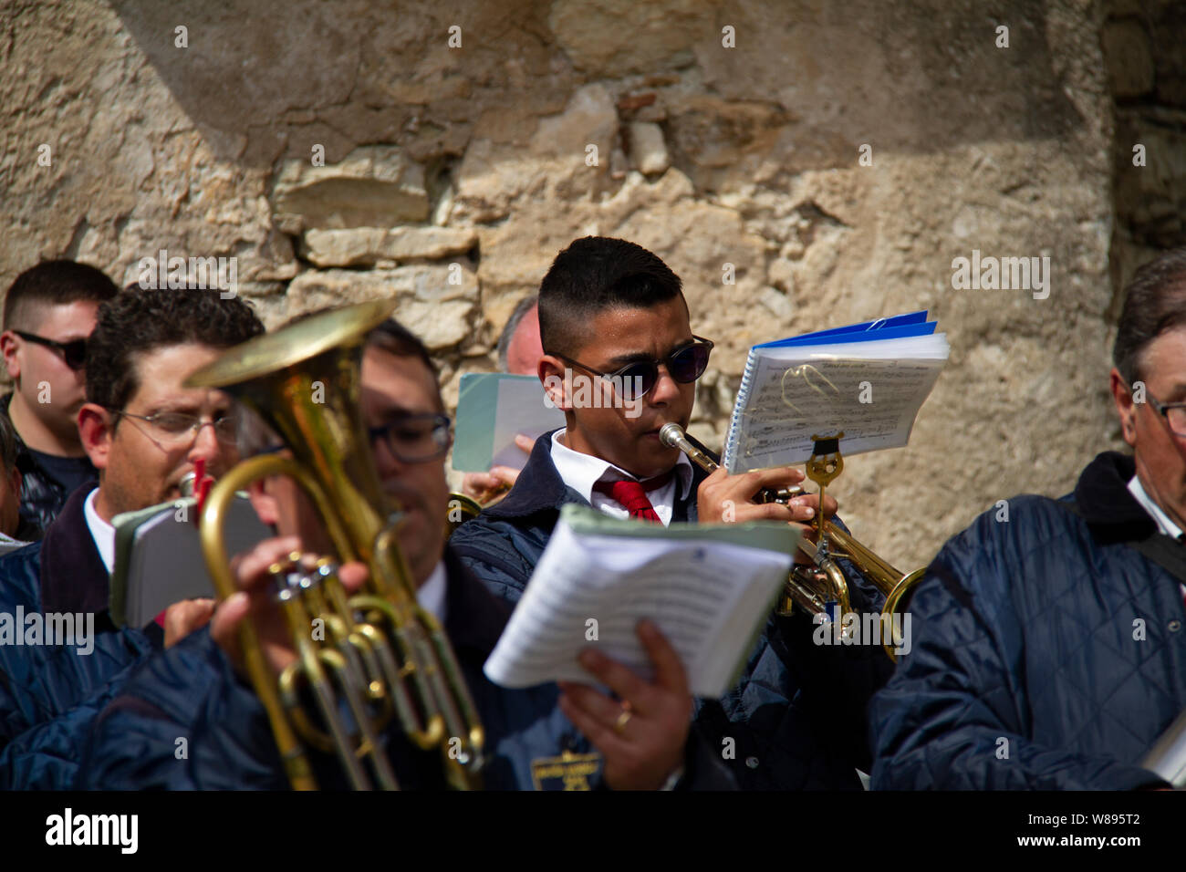
M 511 604 L 523 594 L 561 507 L 588 505 L 560 478 L 550 450 L 551 434 L 540 437 L 511 491 L 449 541 Z M 696 470 L 672 521 L 696 520 L 695 490 L 703 479 Z M 878 600 L 860 578 L 850 577 L 849 587 L 854 611 Z M 803 615 L 772 617 L 738 683 L 720 700 L 696 701 L 693 734 L 715 749 L 742 789 L 860 789 L 855 769 L 869 766 L 865 708 L 891 663 L 876 647 L 817 647 L 814 629 Z

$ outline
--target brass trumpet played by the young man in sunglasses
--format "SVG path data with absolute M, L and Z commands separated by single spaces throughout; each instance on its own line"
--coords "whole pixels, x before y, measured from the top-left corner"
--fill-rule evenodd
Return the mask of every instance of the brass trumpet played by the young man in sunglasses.
M 720 465 L 703 445 L 688 437 L 677 424 L 664 425 L 659 429 L 659 439 L 664 445 L 680 448 L 706 472 L 712 472 Z M 808 477 L 820 484 L 821 507 L 823 505 L 824 484 L 835 478 L 842 467 L 843 460 L 839 448 L 827 456 L 814 456 L 808 462 Z M 798 486 L 780 491 L 759 491 L 755 502 L 786 503 L 801 494 L 803 494 L 803 489 Z M 924 567 L 911 573 L 899 572 L 857 542 L 850 534 L 824 518 L 822 511 L 816 514 L 812 529 L 799 540 L 799 550 L 812 562 L 796 565 L 791 568 L 778 605 L 780 615 L 790 613 L 795 605 L 810 615 L 827 615 L 829 603 L 836 604 L 840 616 L 848 615 L 850 612 L 848 580 L 836 564 L 837 559 L 843 559 L 848 560 L 863 578 L 885 594 L 886 602 L 881 610 L 881 623 L 882 626 L 891 628 L 894 626 L 892 618 L 901 605 L 903 598 L 923 579 L 926 571 Z M 893 653 L 893 638 L 885 641 L 882 648 L 891 660 L 897 660 Z

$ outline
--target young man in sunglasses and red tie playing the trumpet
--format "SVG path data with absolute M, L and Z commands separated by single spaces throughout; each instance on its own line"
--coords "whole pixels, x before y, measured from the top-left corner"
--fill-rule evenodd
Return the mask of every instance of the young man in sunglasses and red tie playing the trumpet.
M 797 470 L 706 476 L 659 441 L 664 424 L 687 428 L 713 344 L 693 335 L 680 279 L 652 253 L 624 240 L 573 242 L 540 286 L 540 330 L 538 376 L 566 426 L 541 437 L 511 492 L 451 540 L 497 594 L 522 596 L 565 503 L 663 524 L 806 521 L 818 508 L 814 496 L 793 507 L 750 502 L 761 488 L 801 482 Z M 854 609 L 869 607 L 876 594 L 853 581 Z M 869 647 L 815 647 L 805 617 L 772 619 L 739 683 L 722 700 L 697 702 L 694 730 L 742 788 L 860 787 L 865 704 L 890 662 Z M 629 739 L 638 712 L 619 713 L 592 688 L 568 696 L 565 713 L 586 734 Z

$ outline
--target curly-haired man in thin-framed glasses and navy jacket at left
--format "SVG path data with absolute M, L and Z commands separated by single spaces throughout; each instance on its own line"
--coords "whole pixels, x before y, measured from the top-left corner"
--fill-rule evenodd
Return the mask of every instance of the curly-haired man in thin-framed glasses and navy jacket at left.
M 111 518 L 180 497 L 199 458 L 216 478 L 237 462 L 229 396 L 181 382 L 262 332 L 250 306 L 218 291 L 134 289 L 98 307 L 78 410 L 98 486 L 75 490 L 40 542 L 0 558 L 0 612 L 40 612 L 45 626 L 69 615 L 76 630 L 68 644 L 0 645 L 0 788 L 69 787 L 81 739 L 127 670 L 209 617 L 183 603 L 164 628 L 115 628 Z

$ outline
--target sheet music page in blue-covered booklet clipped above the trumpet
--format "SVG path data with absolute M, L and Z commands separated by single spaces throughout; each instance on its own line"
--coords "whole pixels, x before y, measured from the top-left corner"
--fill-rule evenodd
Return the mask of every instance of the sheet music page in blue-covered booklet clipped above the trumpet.
M 942 333 L 908 344 L 760 349 L 748 396 L 738 397 L 725 466 L 735 475 L 804 463 L 814 435 L 841 432 L 846 456 L 906 445 L 946 355 Z

